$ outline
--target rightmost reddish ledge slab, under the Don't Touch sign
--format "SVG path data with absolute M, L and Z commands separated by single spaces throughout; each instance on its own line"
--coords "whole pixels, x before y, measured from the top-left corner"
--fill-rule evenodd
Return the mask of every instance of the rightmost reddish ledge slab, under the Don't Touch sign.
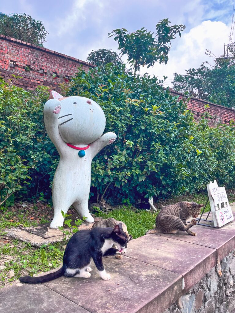
M 192 230 L 197 233 L 197 236 L 191 236 L 181 231 L 178 231 L 176 234 L 159 233 L 156 235 L 216 249 L 218 261 L 222 260 L 235 248 L 235 223 L 233 223 L 233 232 L 221 231 L 221 228 L 209 228 L 200 225 L 193 226 Z

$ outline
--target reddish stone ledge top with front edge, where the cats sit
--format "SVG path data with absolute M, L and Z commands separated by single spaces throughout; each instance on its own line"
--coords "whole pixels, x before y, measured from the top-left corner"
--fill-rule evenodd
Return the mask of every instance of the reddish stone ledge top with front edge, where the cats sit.
M 108 281 L 98 276 L 92 264 L 89 279 L 60 277 L 30 286 L 17 282 L 0 290 L 0 310 L 162 313 L 235 249 L 235 222 L 223 228 L 196 225 L 193 230 L 196 237 L 179 232 L 148 234 L 130 241 L 122 260 L 104 258 L 111 275 Z M 222 264 L 221 275 L 223 268 Z

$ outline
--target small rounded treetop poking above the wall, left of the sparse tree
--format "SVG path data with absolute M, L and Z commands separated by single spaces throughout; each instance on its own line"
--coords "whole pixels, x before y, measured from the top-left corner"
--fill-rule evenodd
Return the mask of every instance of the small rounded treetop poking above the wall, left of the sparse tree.
M 117 52 L 110 49 L 92 50 L 86 58 L 87 62 L 95 64 L 97 66 L 112 63 L 113 65 L 121 64 L 122 61 Z

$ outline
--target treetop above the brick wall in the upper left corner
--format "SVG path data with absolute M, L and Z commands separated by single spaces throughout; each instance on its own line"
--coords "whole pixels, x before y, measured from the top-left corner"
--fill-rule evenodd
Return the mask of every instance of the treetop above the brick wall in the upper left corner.
M 36 21 L 25 13 L 1 13 L 0 33 L 36 45 L 42 45 L 48 34 L 41 21 Z

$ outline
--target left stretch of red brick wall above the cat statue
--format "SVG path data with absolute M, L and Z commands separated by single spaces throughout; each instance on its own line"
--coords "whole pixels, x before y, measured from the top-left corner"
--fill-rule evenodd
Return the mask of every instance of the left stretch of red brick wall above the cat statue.
M 11 74 L 22 76 L 16 85 L 34 90 L 38 85 L 57 89 L 67 82 L 78 66 L 85 69 L 94 65 L 34 44 L 0 35 L 0 75 L 8 80 Z M 52 74 L 55 74 L 53 78 Z

